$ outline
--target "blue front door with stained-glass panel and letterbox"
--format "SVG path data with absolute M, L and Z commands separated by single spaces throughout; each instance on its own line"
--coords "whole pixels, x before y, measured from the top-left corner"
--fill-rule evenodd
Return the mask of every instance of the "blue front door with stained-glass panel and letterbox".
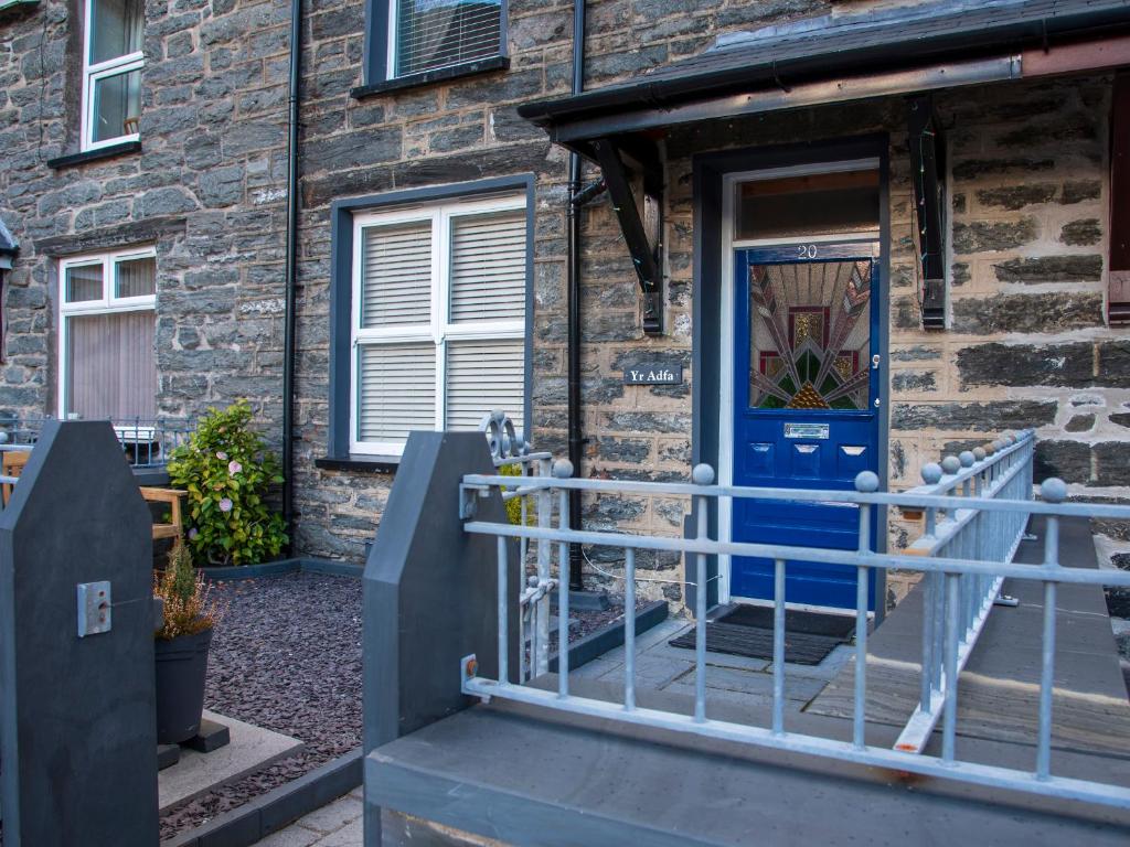
M 734 484 L 853 489 L 878 471 L 878 245 L 738 250 L 734 268 Z M 736 500 L 732 536 L 854 549 L 859 510 Z M 730 594 L 772 600 L 773 561 L 734 557 Z M 855 569 L 790 560 L 785 601 L 853 609 Z

